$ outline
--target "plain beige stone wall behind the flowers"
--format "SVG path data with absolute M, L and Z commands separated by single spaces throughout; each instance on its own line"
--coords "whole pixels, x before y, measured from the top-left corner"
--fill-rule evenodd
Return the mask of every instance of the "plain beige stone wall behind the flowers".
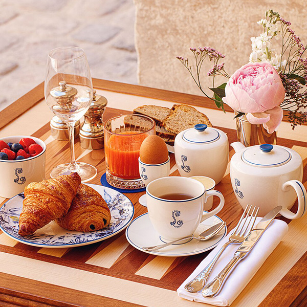
M 262 27 L 256 22 L 264 18 L 268 9 L 291 21 L 296 35 L 304 44 L 307 43 L 305 0 L 134 1 L 141 85 L 202 95 L 176 56 L 192 59 L 190 47 L 211 46 L 226 55 L 225 68 L 232 74 L 248 62 L 250 37 L 262 32 Z M 212 85 L 212 77 L 207 76 L 210 68 L 208 60 L 202 72 L 205 89 Z

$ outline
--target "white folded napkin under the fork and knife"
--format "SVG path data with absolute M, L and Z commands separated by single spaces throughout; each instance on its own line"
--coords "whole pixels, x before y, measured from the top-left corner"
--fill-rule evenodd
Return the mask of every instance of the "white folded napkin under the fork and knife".
M 260 220 L 261 217 L 257 217 L 255 225 L 257 225 Z M 287 223 L 280 220 L 274 220 L 262 234 L 246 258 L 241 260 L 236 268 L 232 271 L 232 273 L 225 281 L 221 292 L 217 296 L 212 298 L 205 298 L 201 292 L 190 293 L 186 291 L 184 289 L 186 283 L 198 275 L 209 264 L 214 255 L 216 255 L 220 248 L 228 241 L 228 238 L 231 234 L 230 232 L 177 289 L 178 295 L 190 301 L 194 300 L 195 302 L 203 302 L 217 306 L 229 306 L 240 294 L 240 292 L 246 287 L 248 282 L 256 274 L 258 269 L 262 266 L 272 251 L 277 247 L 287 231 Z M 207 280 L 207 283 L 209 283 L 214 277 L 216 277 L 218 273 L 224 269 L 239 246 L 239 244 L 232 244 L 226 248 L 220 259 L 217 260 Z

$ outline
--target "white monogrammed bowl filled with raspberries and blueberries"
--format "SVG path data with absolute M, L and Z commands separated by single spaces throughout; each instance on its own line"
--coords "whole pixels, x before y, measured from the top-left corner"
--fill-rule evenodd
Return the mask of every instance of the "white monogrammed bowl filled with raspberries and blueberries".
M 46 144 L 34 137 L 0 139 L 0 196 L 12 198 L 45 179 Z

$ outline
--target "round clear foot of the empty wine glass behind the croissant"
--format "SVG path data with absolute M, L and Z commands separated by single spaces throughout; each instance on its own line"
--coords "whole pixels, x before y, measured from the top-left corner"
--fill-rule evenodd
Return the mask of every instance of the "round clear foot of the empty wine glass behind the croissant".
M 69 175 L 75 171 L 81 177 L 82 183 L 90 181 L 96 177 L 97 168 L 94 167 L 93 165 L 83 163 L 83 162 L 77 162 L 76 164 L 77 164 L 76 170 L 72 170 L 69 168 L 70 163 L 60 164 L 51 171 L 50 177 L 56 178 L 61 175 Z

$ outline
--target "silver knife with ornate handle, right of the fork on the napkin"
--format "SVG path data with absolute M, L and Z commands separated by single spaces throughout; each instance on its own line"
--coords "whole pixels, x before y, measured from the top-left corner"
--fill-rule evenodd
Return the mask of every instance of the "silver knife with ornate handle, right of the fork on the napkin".
M 262 233 L 268 228 L 271 222 L 274 220 L 275 216 L 282 209 L 282 206 L 277 206 L 271 210 L 265 217 L 262 217 L 260 222 L 255 226 L 255 228 L 249 233 L 247 238 L 235 251 L 234 256 L 228 262 L 226 267 L 218 274 L 212 281 L 210 281 L 207 286 L 203 289 L 202 294 L 204 297 L 216 296 L 222 289 L 224 281 L 236 267 L 238 262 L 244 259 L 250 250 L 257 243 Z

